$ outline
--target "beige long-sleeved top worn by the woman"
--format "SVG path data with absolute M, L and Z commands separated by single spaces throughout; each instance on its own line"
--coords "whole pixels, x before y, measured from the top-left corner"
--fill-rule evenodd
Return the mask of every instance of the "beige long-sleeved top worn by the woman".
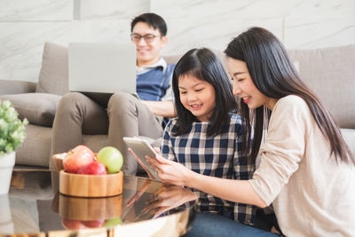
M 287 236 L 355 236 L 355 169 L 337 164 L 304 99 L 279 99 L 250 185 Z

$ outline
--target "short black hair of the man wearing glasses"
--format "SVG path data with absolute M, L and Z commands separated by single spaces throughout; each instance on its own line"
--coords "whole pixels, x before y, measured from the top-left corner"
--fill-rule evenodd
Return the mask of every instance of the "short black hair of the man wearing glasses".
M 163 20 L 161 16 L 155 13 L 148 12 L 134 18 L 132 22 L 130 22 L 130 32 L 133 31 L 134 26 L 136 26 L 138 22 L 146 22 L 149 27 L 159 29 L 161 36 L 166 36 L 167 34 L 168 28 L 166 26 L 165 20 Z

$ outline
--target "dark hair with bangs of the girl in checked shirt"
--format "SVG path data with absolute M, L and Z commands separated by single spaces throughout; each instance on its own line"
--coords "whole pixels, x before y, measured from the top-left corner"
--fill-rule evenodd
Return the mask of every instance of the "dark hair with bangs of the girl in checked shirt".
M 206 81 L 215 89 L 216 106 L 209 119 L 211 126 L 207 130 L 207 135 L 212 136 L 221 133 L 225 124 L 230 122 L 228 113 L 235 110 L 236 101 L 233 96 L 232 85 L 220 60 L 209 49 L 201 48 L 187 51 L 178 60 L 172 76 L 172 88 L 177 110 L 176 135 L 187 133 L 191 124 L 198 121 L 180 101 L 178 79 L 185 75 L 192 75 L 199 80 Z

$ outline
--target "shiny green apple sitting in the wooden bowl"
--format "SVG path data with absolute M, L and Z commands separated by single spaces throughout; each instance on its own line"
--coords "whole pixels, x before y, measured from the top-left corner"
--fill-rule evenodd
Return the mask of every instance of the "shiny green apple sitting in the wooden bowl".
M 103 147 L 97 157 L 98 162 L 105 164 L 108 174 L 117 173 L 122 168 L 123 156 L 114 146 Z

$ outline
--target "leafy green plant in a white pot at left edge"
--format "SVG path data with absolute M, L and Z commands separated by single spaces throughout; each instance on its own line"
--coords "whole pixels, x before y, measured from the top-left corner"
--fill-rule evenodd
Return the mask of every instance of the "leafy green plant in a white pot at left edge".
M 0 100 L 0 194 L 9 193 L 15 150 L 26 138 L 28 120 L 19 114 L 8 100 Z

